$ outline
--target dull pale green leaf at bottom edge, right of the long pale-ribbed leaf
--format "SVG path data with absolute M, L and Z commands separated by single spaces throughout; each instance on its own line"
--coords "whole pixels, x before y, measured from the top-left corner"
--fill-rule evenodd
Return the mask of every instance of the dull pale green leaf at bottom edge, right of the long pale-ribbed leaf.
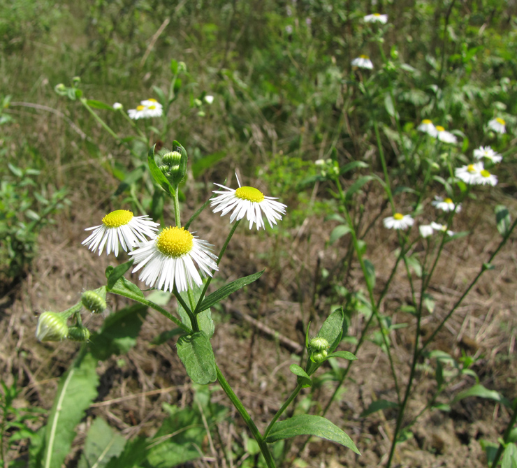
M 112 430 L 103 418 L 96 418 L 88 430 L 78 468 L 104 468 L 112 457 L 122 453 L 125 445 L 122 435 Z

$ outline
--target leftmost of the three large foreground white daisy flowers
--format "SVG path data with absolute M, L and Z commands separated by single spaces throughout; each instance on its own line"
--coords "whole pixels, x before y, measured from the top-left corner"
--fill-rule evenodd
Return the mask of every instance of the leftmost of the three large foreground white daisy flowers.
M 154 237 L 158 231 L 158 223 L 154 223 L 150 217 L 133 216 L 128 210 L 116 210 L 106 214 L 100 226 L 86 228 L 85 231 L 94 232 L 82 241 L 89 250 L 95 251 L 99 247 L 99 255 L 106 246 L 106 254 L 111 252 L 115 256 L 119 254 L 119 242 L 124 251 L 133 250 L 138 242 L 145 241 L 146 237 Z

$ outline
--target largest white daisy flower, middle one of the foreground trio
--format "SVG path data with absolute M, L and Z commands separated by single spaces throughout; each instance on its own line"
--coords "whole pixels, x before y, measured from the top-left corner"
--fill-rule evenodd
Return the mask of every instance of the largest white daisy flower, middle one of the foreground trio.
M 212 244 L 176 226 L 163 229 L 154 239 L 140 242 L 138 249 L 129 255 L 135 259 L 133 273 L 144 267 L 139 279 L 145 281 L 147 286 L 154 287 L 156 284 L 156 288 L 171 293 L 174 286 L 179 292 L 187 291 L 194 283 L 201 286 L 201 275 L 211 277 L 211 270 L 219 270 Z

